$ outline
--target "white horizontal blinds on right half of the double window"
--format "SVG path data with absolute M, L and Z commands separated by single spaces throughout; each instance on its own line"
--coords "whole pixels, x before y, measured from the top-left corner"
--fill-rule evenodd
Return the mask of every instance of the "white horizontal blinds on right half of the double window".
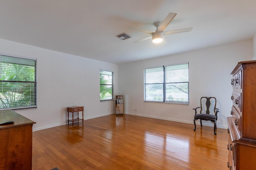
M 188 63 L 165 67 L 165 102 L 189 103 Z

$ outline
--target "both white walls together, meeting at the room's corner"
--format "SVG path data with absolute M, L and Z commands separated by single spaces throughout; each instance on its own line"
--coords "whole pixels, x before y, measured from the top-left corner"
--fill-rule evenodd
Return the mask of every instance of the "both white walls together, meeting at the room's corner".
M 38 59 L 38 108 L 16 110 L 36 121 L 33 131 L 66 124 L 68 106 L 84 106 L 85 119 L 114 113 L 114 101 L 99 101 L 100 68 L 114 71 L 114 95 L 124 94 L 126 114 L 192 123 L 192 108 L 199 106 L 200 97 L 215 96 L 220 108 L 217 125 L 226 128 L 226 117 L 230 116 L 232 105 L 230 72 L 239 61 L 252 59 L 253 41 L 241 41 L 119 66 L 4 39 L 0 39 L 0 52 Z M 189 62 L 190 69 L 189 105 L 143 101 L 144 68 L 185 61 Z M 137 112 L 134 112 L 134 108 Z M 205 124 L 211 125 L 207 121 Z

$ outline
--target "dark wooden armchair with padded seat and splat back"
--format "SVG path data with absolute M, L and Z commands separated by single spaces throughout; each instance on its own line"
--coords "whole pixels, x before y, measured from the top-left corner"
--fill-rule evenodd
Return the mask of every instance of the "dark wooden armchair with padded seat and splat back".
M 219 112 L 219 109 L 216 108 L 216 98 L 214 97 L 202 97 L 200 100 L 201 107 L 194 108 L 195 110 L 195 116 L 194 116 L 194 125 L 196 130 L 196 120 L 200 119 L 200 124 L 202 127 L 202 120 L 211 121 L 214 124 L 214 135 L 217 133 L 215 130 L 217 129 L 216 121 L 218 119 L 217 113 Z M 196 109 L 200 108 L 200 113 L 196 112 Z

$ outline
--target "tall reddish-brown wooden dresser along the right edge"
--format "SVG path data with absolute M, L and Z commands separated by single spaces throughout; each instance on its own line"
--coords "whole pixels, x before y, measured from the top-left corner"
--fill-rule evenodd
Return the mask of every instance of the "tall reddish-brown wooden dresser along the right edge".
M 233 106 L 228 119 L 228 168 L 256 169 L 256 61 L 239 62 L 231 84 Z

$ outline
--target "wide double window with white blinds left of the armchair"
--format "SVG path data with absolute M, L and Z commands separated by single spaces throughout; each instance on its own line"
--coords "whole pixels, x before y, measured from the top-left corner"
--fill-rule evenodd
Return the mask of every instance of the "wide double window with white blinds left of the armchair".
M 189 104 L 188 63 L 144 69 L 144 101 Z

